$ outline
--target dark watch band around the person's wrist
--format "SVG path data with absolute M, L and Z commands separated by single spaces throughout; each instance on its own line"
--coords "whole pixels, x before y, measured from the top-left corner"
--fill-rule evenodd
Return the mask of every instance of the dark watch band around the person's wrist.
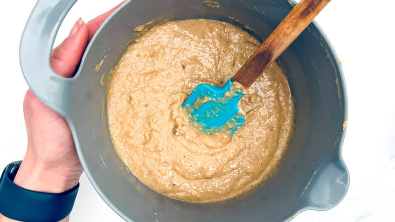
M 26 190 L 13 182 L 21 163 L 9 164 L 0 178 L 0 213 L 26 222 L 59 221 L 70 214 L 80 183 L 60 194 Z

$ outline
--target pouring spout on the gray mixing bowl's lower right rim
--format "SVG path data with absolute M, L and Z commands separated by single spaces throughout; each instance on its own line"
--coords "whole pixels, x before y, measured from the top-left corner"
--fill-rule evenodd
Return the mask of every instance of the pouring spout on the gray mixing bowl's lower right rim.
M 300 196 L 300 208 L 328 210 L 343 200 L 349 186 L 349 173 L 341 157 L 324 162 L 314 171 Z

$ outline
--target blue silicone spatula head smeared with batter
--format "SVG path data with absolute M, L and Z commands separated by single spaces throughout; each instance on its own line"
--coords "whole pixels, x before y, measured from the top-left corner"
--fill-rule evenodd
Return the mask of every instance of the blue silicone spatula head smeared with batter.
M 246 121 L 246 115 L 238 107 L 242 96 L 242 90 L 236 89 L 229 79 L 221 87 L 197 86 L 182 107 L 190 115 L 190 123 L 203 132 L 233 134 Z

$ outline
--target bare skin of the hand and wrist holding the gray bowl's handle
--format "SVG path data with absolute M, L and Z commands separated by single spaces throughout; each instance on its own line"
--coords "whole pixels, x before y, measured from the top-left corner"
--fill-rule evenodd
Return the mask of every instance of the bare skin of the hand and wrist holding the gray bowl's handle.
M 120 5 L 88 23 L 82 19 L 51 55 L 52 69 L 62 77 L 74 75 L 82 55 L 104 20 Z M 75 187 L 83 172 L 66 120 L 29 89 L 23 102 L 27 151 L 14 179 L 18 186 L 39 192 L 62 193 Z M 66 217 L 62 221 L 68 221 Z M 0 222 L 15 221 L 0 214 Z

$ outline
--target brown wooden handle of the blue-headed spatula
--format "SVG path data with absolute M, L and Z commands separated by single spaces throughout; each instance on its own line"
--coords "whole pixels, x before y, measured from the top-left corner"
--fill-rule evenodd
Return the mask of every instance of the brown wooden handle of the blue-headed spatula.
M 301 0 L 232 77 L 232 82 L 250 87 L 330 1 Z

